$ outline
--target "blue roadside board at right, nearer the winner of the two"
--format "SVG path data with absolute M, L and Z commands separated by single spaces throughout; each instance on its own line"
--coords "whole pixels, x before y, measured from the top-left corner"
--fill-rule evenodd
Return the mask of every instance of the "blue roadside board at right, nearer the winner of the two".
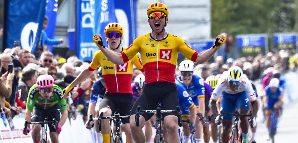
M 268 36 L 266 34 L 236 35 L 236 46 L 242 56 L 255 56 L 268 52 Z

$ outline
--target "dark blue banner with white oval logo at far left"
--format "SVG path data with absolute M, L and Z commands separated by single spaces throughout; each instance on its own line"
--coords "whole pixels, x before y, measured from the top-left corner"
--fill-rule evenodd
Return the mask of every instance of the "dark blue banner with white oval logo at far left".
M 44 23 L 46 1 L 9 0 L 7 4 L 5 47 L 12 48 L 13 41 L 17 40 L 22 49 L 35 51 Z

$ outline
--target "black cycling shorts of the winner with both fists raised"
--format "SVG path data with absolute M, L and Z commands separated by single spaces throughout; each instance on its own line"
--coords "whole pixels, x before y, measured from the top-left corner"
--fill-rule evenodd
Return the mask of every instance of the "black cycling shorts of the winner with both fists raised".
M 145 84 L 143 94 L 136 100 L 131 109 L 131 115 L 136 114 L 136 107 L 141 106 L 140 110 L 154 110 L 158 103 L 162 102 L 162 110 L 176 110 L 179 105 L 178 92 L 176 84 L 169 82 L 156 82 Z M 148 121 L 153 113 L 142 113 L 146 121 Z M 174 115 L 177 113 L 163 113 L 162 118 L 165 116 Z

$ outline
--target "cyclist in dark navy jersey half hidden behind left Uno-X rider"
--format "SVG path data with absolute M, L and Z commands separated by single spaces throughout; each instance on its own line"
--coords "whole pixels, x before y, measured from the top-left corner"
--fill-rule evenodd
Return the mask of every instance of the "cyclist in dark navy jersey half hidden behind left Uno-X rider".
M 92 114 L 93 117 L 99 116 L 99 103 L 103 99 L 103 96 L 105 95 L 105 81 L 103 80 L 103 74 L 101 72 L 101 66 L 98 68 L 98 79 L 93 83 L 91 88 L 91 94 L 90 94 L 90 101 L 89 101 L 89 108 L 88 108 L 88 117 L 90 114 Z M 95 130 L 96 130 L 96 140 L 97 143 L 102 143 L 103 138 L 101 136 L 100 131 L 98 130 L 98 121 L 91 122 L 90 126 L 87 126 L 88 121 L 86 122 L 86 128 L 91 129 L 91 125 L 95 123 Z

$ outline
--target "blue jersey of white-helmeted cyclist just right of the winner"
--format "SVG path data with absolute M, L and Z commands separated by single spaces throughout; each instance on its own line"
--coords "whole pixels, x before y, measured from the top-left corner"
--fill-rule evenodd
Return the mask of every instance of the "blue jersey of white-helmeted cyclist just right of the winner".
M 182 81 L 181 75 L 177 76 L 177 78 Z M 200 76 L 194 74 L 189 86 L 185 86 L 184 84 L 182 85 L 187 90 L 190 97 L 205 99 L 204 80 Z

